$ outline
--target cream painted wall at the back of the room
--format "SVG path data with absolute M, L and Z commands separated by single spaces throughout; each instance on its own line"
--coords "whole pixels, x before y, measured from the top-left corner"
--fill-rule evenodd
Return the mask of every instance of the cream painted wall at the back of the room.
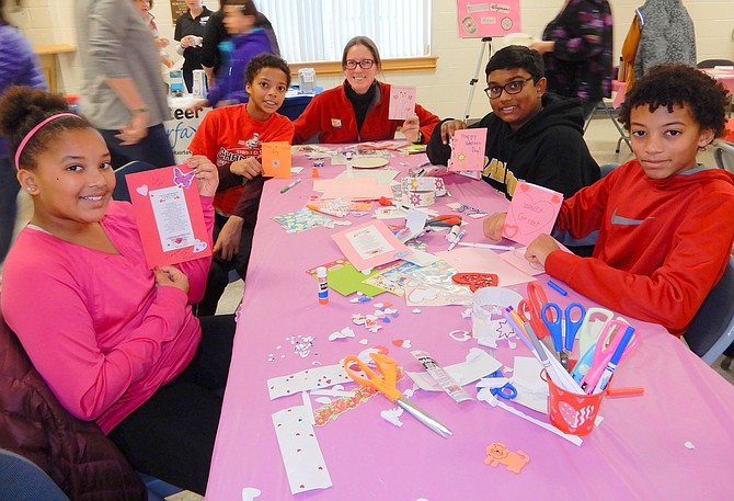
M 125 0 L 119 0 L 125 1 Z M 346 0 L 345 0 L 346 1 Z M 395 0 L 400 1 L 400 0 Z M 208 0 L 207 7 L 216 10 L 218 1 Z M 523 32 L 539 37 L 544 25 L 561 9 L 564 0 L 525 0 L 521 7 Z M 612 0 L 615 15 L 615 48 L 620 53 L 634 9 L 643 0 Z M 684 0 L 696 24 L 698 58 L 734 59 L 734 9 L 732 0 Z M 73 0 L 25 0 L 24 8 L 10 18 L 21 26 L 34 45 L 76 45 L 73 32 Z M 161 36 L 173 38 L 173 22 L 167 0 L 156 0 L 153 15 Z M 433 54 L 438 56 L 435 71 L 388 73 L 380 78 L 395 84 L 418 86 L 418 102 L 439 116 L 462 116 L 467 106 L 470 86 L 479 61 L 482 44 L 479 39 L 462 39 L 457 35 L 456 2 L 433 0 Z M 278 36 L 285 36 L 278 34 Z M 501 41 L 494 41 L 497 48 Z M 172 57 L 175 53 L 170 49 Z M 482 116 L 489 110 L 482 92 L 485 87 L 483 67 L 489 58 L 485 50 L 480 69 L 480 82 L 475 86 L 470 115 Z M 73 54 L 60 55 L 58 72 L 60 89 L 69 93 L 81 91 L 81 68 Z M 330 88 L 339 84 L 339 78 L 320 78 L 319 86 Z

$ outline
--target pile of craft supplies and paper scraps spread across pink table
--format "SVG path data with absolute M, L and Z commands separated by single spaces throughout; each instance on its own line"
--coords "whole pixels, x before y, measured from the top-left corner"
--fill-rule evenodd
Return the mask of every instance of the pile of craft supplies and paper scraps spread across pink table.
M 457 134 L 452 151 L 460 155 L 458 141 L 470 145 L 483 136 Z M 623 371 L 640 343 L 634 327 L 610 310 L 569 299 L 567 286 L 548 281 L 541 266 L 525 259 L 525 246 L 551 232 L 560 193 L 520 182 L 505 240 L 493 243 L 482 232 L 489 209 L 450 193 L 454 180 L 481 182 L 472 167 L 481 162 L 463 156 L 448 168 L 425 162 L 409 171 L 401 141 L 300 146 L 293 155 L 303 167 L 291 168 L 284 158 L 278 163 L 288 162 L 290 171 L 282 177 L 305 169 L 312 175 L 290 181 L 280 193 L 305 203 L 273 219 L 288 234 L 321 231 L 324 246 L 343 254 L 307 263 L 302 278 L 313 282 L 319 315 L 341 315 L 343 327 L 319 332 L 317 324 L 308 337 L 274 337 L 267 357 L 273 367 L 287 356 L 302 361 L 299 371 L 267 379 L 272 400 L 298 400 L 273 414 L 293 493 L 332 485 L 318 430 L 354 412 L 397 428 L 425 425 L 435 440 L 455 440 L 440 409 L 433 410 L 431 400 L 416 403 L 421 391 L 446 394 L 459 409 L 486 402 L 481 409 L 506 411 L 577 446 L 596 426 L 604 429 L 606 397 L 643 392 L 613 385 L 617 367 Z M 528 204 L 534 210 L 524 209 Z M 456 318 L 455 329 L 411 330 L 411 318 L 435 308 Z M 429 353 L 422 335 L 461 344 L 465 358 Z M 339 343 L 342 355 L 320 355 L 326 343 Z M 411 354 L 404 366 L 395 356 L 402 350 Z M 514 474 L 532 465 L 531 454 L 514 452 L 501 429 L 493 436 L 495 442 L 482 444 L 485 464 L 504 464 Z

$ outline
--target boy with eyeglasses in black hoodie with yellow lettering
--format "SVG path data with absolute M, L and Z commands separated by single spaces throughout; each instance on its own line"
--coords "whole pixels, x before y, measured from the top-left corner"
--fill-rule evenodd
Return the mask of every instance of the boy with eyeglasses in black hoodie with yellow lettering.
M 584 116 L 577 99 L 546 92 L 542 57 L 511 45 L 486 65 L 486 93 L 492 112 L 470 128 L 486 128 L 482 178 L 512 198 L 518 180 L 539 184 L 570 197 L 599 179 L 599 166 L 583 138 Z M 467 128 L 447 118 L 428 141 L 428 159 L 446 164 L 450 139 Z

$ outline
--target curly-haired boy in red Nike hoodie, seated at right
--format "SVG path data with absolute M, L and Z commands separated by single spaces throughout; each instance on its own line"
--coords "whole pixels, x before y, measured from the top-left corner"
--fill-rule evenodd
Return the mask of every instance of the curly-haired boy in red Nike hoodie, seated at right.
M 696 163 L 722 135 L 726 90 L 686 65 L 658 65 L 635 82 L 620 119 L 635 159 L 563 202 L 557 231 L 598 230 L 592 258 L 543 235 L 525 257 L 622 315 L 680 337 L 721 278 L 734 242 L 734 175 Z M 484 221 L 501 239 L 505 214 Z

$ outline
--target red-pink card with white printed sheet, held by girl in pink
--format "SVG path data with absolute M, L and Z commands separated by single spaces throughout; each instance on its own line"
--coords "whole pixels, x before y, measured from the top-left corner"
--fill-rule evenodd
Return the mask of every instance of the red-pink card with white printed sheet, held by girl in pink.
M 125 179 L 151 269 L 211 255 L 193 170 L 172 166 Z

